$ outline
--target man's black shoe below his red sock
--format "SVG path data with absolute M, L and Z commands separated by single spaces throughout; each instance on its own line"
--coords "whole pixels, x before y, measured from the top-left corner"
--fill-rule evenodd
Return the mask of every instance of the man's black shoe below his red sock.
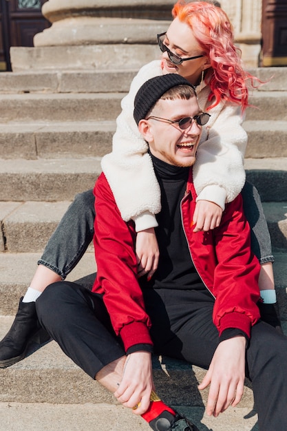
M 167 411 L 162 412 L 160 417 L 153 419 L 149 426 L 156 431 L 199 431 L 193 423 L 180 414 L 176 413 L 176 416 L 173 416 Z

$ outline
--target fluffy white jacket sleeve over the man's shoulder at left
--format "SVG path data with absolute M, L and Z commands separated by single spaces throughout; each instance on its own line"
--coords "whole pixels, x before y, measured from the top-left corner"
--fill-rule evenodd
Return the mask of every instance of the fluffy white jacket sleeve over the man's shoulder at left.
M 102 159 L 103 172 L 123 220 L 141 215 L 140 225 L 135 220 L 137 231 L 157 226 L 153 214 L 161 206 L 160 187 L 147 153 L 148 146 L 134 120 L 134 98 L 145 81 L 161 73 L 160 61 L 152 61 L 140 69 L 121 103 L 123 110 L 116 120 L 113 150 Z

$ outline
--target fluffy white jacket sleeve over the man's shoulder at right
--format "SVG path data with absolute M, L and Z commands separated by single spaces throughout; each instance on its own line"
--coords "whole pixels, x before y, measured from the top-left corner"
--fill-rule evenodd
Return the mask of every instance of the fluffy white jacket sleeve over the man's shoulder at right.
M 200 107 L 205 106 L 208 90 L 205 87 L 199 94 Z M 193 167 L 193 181 L 197 200 L 210 200 L 224 209 L 224 204 L 234 200 L 244 186 L 247 134 L 240 107 L 220 103 L 209 114 Z

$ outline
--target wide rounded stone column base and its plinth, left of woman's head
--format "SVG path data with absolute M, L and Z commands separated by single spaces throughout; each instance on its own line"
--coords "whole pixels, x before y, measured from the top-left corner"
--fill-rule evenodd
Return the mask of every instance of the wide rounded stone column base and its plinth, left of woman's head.
M 171 22 L 172 0 L 49 0 L 51 27 L 34 48 L 12 48 L 17 70 L 138 70 L 160 56 L 156 35 Z

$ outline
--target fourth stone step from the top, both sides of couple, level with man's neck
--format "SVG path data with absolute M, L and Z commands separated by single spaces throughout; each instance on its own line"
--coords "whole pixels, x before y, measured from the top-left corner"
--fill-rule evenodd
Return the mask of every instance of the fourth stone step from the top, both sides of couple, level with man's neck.
M 287 158 L 246 158 L 246 177 L 263 201 L 287 200 Z M 94 187 L 100 158 L 0 159 L 0 201 L 72 200 Z

